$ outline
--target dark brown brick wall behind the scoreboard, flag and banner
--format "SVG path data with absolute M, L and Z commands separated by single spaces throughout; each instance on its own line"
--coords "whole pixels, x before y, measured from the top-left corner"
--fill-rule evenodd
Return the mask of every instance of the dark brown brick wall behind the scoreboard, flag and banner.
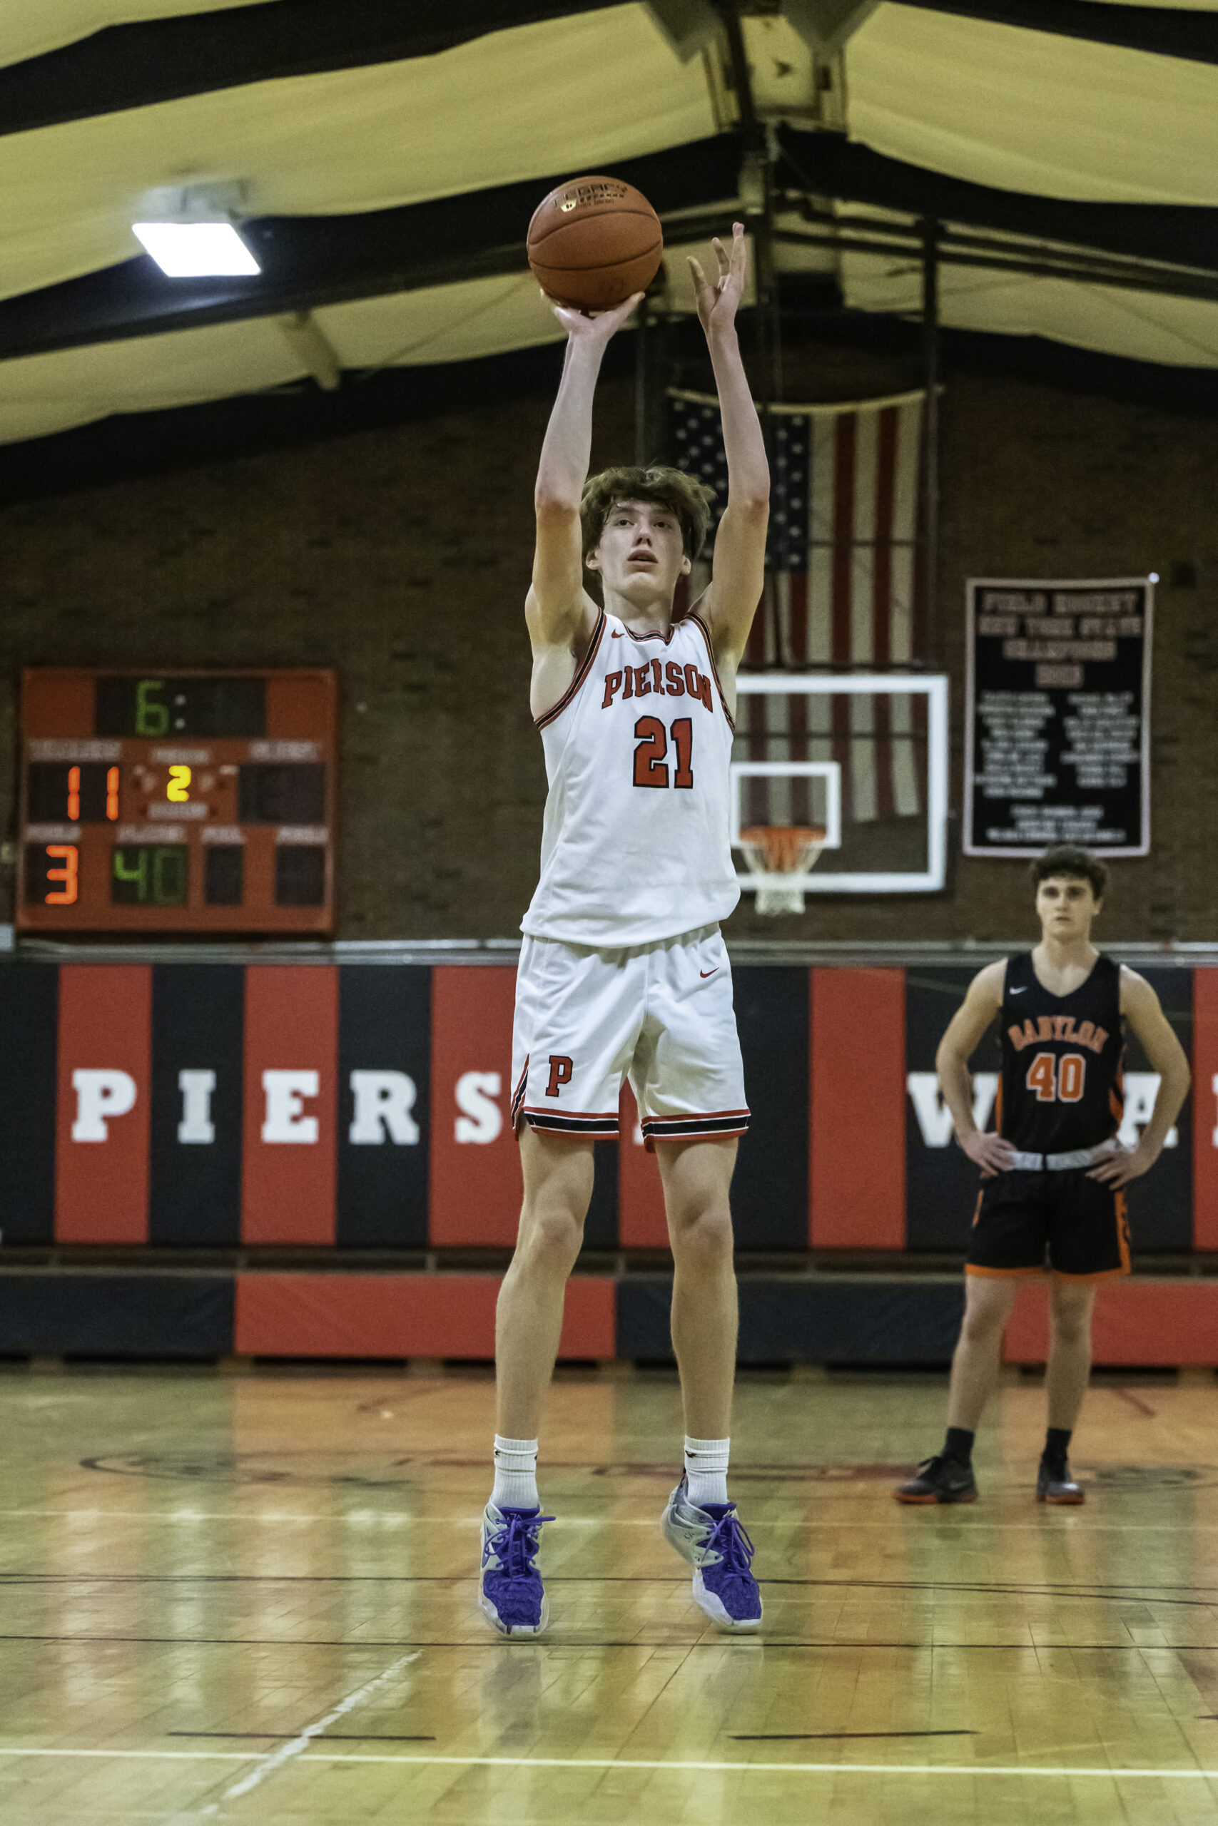
M 522 400 L 0 508 L 0 802 L 22 665 L 332 665 L 343 681 L 340 935 L 506 937 L 533 887 L 544 769 L 522 597 L 548 402 Z M 603 389 L 593 462 L 632 451 Z M 1154 855 L 1118 862 L 1105 935 L 1213 939 L 1218 425 L 959 376 L 942 407 L 942 624 L 962 712 L 962 581 L 1158 570 Z M 4 913 L 11 900 L 4 873 Z M 939 898 L 813 904 L 740 933 L 993 939 L 1023 864 L 957 858 Z

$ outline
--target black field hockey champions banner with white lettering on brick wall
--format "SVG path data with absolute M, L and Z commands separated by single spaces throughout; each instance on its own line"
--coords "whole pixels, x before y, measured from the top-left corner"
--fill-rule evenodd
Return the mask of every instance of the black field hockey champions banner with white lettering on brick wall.
M 971 579 L 964 855 L 1150 851 L 1145 577 Z

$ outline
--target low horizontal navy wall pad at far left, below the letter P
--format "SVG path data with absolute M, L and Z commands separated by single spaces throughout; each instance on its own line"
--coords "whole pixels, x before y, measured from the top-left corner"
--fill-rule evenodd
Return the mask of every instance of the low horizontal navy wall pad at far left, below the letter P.
M 232 1275 L 4 1275 L 0 1355 L 225 1357 Z

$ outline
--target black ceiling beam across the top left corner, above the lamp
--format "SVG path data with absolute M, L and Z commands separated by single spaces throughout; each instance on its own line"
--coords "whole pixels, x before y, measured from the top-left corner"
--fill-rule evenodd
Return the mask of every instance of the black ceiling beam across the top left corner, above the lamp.
M 0 133 L 62 126 L 212 89 L 429 57 L 509 26 L 617 0 L 267 0 L 110 26 L 0 69 Z

